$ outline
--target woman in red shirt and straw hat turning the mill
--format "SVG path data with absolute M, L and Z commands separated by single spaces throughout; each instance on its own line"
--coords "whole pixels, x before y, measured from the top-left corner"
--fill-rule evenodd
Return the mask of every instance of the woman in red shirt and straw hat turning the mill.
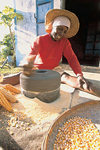
M 68 40 L 79 30 L 77 16 L 64 9 L 49 10 L 45 17 L 45 29 L 48 34 L 38 36 L 34 40 L 30 54 L 22 64 L 28 67 L 33 65 L 38 69 L 54 69 L 64 55 L 76 77 L 64 72 L 61 82 L 74 88 L 87 88 L 88 82 L 83 78 L 81 66 Z

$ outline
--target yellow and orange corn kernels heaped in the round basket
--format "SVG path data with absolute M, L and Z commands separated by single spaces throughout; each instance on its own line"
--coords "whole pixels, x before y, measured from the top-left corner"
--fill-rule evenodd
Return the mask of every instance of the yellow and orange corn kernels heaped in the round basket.
M 54 150 L 100 150 L 100 132 L 90 119 L 71 118 L 58 129 Z

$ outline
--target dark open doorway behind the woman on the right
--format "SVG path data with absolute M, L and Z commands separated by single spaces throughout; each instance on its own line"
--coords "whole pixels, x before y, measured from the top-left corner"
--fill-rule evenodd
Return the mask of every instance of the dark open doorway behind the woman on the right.
M 77 35 L 70 38 L 80 64 L 98 66 L 100 58 L 100 0 L 67 0 L 65 9 L 75 13 L 80 21 Z M 63 58 L 63 63 L 66 63 Z

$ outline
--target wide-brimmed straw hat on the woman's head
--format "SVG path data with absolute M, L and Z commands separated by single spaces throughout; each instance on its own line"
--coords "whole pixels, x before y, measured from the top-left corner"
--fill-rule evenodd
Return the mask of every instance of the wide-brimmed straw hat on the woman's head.
M 51 9 L 47 12 L 47 14 L 45 16 L 45 30 L 46 30 L 46 32 L 51 33 L 52 22 L 58 16 L 65 16 L 71 22 L 71 26 L 68 29 L 68 32 L 66 33 L 65 37 L 70 38 L 70 37 L 73 37 L 74 35 L 76 35 L 76 33 L 79 30 L 78 17 L 74 13 L 72 13 L 68 10 L 65 10 L 65 9 Z

